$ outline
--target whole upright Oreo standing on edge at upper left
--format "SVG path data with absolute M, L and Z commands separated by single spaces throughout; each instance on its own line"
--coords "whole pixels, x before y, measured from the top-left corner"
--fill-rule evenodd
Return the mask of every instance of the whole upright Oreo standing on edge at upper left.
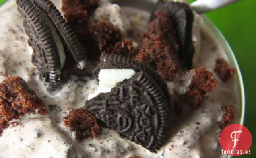
M 65 50 L 72 53 L 78 68 L 85 66 L 85 52 L 72 29 L 49 0 L 16 0 L 17 10 L 23 15 L 28 44 L 33 49 L 32 63 L 39 70 L 48 90 L 60 84 Z M 67 49 L 65 49 L 67 48 Z

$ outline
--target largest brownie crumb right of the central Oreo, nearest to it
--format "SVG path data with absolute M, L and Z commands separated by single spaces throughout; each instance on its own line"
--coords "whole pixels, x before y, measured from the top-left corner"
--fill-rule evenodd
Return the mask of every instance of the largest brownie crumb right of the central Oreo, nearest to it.
M 193 108 L 198 107 L 198 103 L 202 100 L 206 92 L 212 92 L 217 87 L 217 80 L 213 78 L 214 73 L 206 70 L 204 66 L 193 70 L 191 84 L 186 93 L 186 101 Z

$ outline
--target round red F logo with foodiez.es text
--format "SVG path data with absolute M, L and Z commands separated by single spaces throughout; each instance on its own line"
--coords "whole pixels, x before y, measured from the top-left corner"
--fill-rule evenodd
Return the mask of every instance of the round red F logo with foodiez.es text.
M 252 135 L 245 126 L 232 124 L 221 132 L 220 137 L 221 154 L 240 156 L 251 154 Z

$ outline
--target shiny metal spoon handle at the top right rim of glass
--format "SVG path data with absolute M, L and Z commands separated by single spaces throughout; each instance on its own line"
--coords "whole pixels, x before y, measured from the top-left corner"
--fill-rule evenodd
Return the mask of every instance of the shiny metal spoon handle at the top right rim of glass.
M 240 0 L 197 0 L 191 3 L 190 6 L 195 12 L 202 14 L 238 1 Z

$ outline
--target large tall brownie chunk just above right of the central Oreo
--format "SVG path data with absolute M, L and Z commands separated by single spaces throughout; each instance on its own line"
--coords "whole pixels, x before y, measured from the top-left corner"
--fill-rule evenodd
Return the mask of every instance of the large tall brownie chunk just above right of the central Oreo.
M 149 23 L 135 60 L 154 68 L 163 79 L 171 80 L 178 67 L 179 47 L 169 17 L 162 11 L 156 11 L 155 15 L 157 18 Z

